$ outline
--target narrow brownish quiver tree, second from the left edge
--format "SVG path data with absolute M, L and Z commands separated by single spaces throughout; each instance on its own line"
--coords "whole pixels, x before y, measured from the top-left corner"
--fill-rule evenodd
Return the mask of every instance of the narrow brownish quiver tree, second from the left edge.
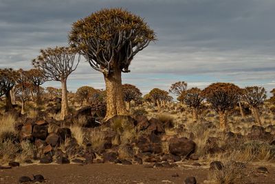
M 28 71 L 19 69 L 17 85 L 15 86 L 15 95 L 21 100 L 21 114 L 25 114 L 25 102 L 30 100 L 30 92 L 34 89 L 32 82 L 29 80 Z

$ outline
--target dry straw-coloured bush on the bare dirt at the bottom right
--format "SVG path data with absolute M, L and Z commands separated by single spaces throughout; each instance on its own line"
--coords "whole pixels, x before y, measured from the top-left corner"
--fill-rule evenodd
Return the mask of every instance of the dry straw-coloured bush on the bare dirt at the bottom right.
M 232 159 L 223 163 L 222 170 L 212 170 L 208 175 L 210 183 L 232 184 L 245 183 L 245 164 L 238 164 Z

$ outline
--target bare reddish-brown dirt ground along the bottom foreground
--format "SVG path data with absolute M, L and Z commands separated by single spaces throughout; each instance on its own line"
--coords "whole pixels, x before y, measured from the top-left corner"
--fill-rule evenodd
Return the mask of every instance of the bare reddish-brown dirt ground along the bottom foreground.
M 256 170 L 253 165 L 250 170 Z M 252 172 L 249 183 L 275 183 L 275 168 L 270 173 Z M 210 171 L 205 167 L 181 165 L 178 168 L 145 168 L 144 165 L 111 163 L 91 165 L 27 165 L 0 170 L 0 183 L 18 183 L 20 176 L 42 174 L 45 183 L 184 183 L 187 176 L 195 176 L 198 183 L 207 182 Z M 178 175 L 178 176 L 174 176 Z

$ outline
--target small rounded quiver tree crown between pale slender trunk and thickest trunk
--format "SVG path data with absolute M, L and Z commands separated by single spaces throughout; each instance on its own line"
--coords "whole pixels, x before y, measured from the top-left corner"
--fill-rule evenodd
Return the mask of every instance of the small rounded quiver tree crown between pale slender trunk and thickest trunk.
M 87 103 L 90 97 L 94 97 L 94 95 L 98 94 L 98 90 L 94 89 L 93 87 L 80 87 L 76 90 L 76 97 L 80 100 L 81 105 L 83 104 L 83 100 Z

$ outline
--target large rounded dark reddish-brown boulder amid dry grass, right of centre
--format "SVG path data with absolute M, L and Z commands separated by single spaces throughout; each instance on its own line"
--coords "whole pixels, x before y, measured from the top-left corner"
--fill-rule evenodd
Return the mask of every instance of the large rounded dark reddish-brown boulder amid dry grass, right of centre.
M 196 143 L 186 137 L 173 138 L 169 141 L 169 151 L 177 156 L 188 157 L 195 152 Z

